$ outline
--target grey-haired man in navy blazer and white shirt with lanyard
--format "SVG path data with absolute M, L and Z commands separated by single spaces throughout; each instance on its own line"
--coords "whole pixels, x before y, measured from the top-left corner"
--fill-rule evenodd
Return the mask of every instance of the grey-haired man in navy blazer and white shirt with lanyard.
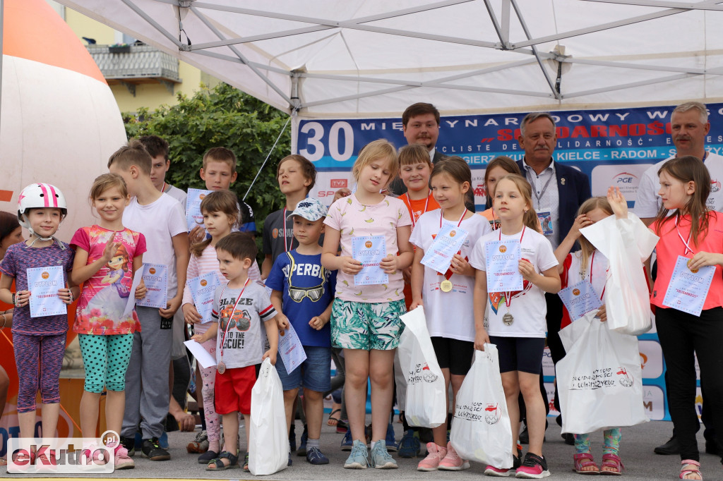
M 522 175 L 532 186 L 532 203 L 542 226 L 542 233 L 555 249 L 575 222 L 580 205 L 590 198 L 588 176 L 568 165 L 555 162 L 552 157 L 557 144 L 555 119 L 547 112 L 529 113 L 523 118 L 518 142 L 525 151 L 523 160 L 517 164 Z M 547 301 L 547 345 L 552 362 L 565 356 L 565 348 L 560 341 L 560 323 L 562 321 L 562 300 L 557 294 L 545 294 Z M 542 376 L 540 376 L 542 384 Z M 544 385 L 541 385 L 543 397 L 547 399 Z M 555 386 L 555 407 L 560 410 Z M 547 404 L 549 407 L 549 403 Z M 549 409 L 549 408 L 548 408 Z M 557 418 L 562 423 L 561 417 Z M 525 436 L 521 435 L 521 439 Z M 565 442 L 574 443 L 572 435 Z

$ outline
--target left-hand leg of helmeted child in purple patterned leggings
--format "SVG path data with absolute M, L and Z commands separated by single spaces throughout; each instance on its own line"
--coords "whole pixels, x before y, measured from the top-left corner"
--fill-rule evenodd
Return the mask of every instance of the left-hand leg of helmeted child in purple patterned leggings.
M 35 432 L 35 396 L 38 394 L 40 336 L 12 333 L 17 367 L 17 418 L 20 437 L 32 438 Z

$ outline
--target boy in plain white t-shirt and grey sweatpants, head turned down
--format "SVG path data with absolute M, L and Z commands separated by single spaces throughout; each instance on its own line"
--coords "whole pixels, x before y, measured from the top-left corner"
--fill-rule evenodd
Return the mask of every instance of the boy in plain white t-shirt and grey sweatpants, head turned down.
M 121 175 L 132 196 L 123 212 L 123 224 L 145 235 L 148 250 L 143 260 L 168 268 L 166 308 L 136 307 L 141 331 L 134 334 L 126 372 L 126 409 L 121 429 L 121 443 L 129 456 L 135 452 L 134 436 L 140 422 L 143 456 L 165 461 L 171 456 L 159 446 L 158 438 L 168 414 L 173 317 L 183 297 L 183 290 L 177 287 L 186 283 L 190 253 L 184 209 L 176 199 L 155 188 L 150 180 L 151 161 L 143 144 L 131 140 L 111 155 L 108 170 Z

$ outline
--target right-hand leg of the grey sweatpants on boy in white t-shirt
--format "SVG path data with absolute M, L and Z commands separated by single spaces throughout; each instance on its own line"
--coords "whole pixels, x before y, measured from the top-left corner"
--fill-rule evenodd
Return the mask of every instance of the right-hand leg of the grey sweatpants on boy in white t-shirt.
M 143 439 L 160 438 L 168 415 L 171 391 L 168 389 L 168 366 L 171 365 L 173 324 L 161 326 L 156 308 L 138 309 L 141 321 L 142 353 L 140 415 Z M 162 329 L 168 327 L 168 329 Z

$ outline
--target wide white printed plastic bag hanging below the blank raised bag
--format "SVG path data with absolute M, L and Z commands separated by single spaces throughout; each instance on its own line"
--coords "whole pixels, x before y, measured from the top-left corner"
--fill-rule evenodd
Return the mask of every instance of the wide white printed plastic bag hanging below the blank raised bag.
M 611 331 L 594 313 L 560 331 L 567 355 L 557 363 L 562 433 L 649 421 L 643 407 L 638 338 Z

